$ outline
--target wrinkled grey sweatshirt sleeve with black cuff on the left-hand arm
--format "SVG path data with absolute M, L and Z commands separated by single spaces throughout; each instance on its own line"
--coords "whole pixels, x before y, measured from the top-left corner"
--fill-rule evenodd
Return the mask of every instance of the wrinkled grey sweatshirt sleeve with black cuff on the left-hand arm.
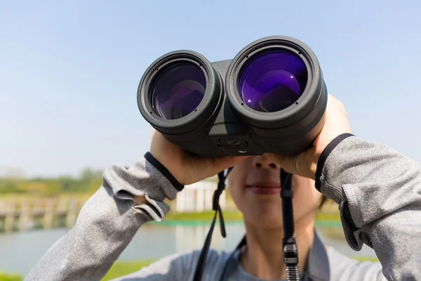
M 163 200 L 174 200 L 182 188 L 149 153 L 134 166 L 110 166 L 74 227 L 25 280 L 101 280 L 142 224 L 163 221 L 169 211 Z M 135 205 L 133 195 L 145 195 L 147 202 Z

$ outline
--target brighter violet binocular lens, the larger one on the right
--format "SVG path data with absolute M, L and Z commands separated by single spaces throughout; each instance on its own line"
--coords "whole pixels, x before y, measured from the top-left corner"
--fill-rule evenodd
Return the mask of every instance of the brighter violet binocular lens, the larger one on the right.
M 239 74 L 239 93 L 248 107 L 276 112 L 292 105 L 307 85 L 307 67 L 295 53 L 266 51 L 250 58 Z

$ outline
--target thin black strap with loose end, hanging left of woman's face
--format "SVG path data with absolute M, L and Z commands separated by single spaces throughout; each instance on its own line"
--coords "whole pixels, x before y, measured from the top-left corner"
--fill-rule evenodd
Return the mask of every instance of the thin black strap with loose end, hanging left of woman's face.
M 220 218 L 221 235 L 224 238 L 227 236 L 227 232 L 225 230 L 224 217 L 222 216 L 222 210 L 219 204 L 219 199 L 220 199 L 220 195 L 225 190 L 225 179 L 227 178 L 231 170 L 232 170 L 232 167 L 227 170 L 226 174 L 225 174 L 225 171 L 221 171 L 218 174 L 218 178 L 219 178 L 218 188 L 216 188 L 215 192 L 213 192 L 213 207 L 212 208 L 215 211 L 215 215 L 213 216 L 213 221 L 212 221 L 212 224 L 210 225 L 208 235 L 206 235 L 205 244 L 203 244 L 203 248 L 201 250 L 199 259 L 197 261 L 196 270 L 194 271 L 194 278 L 193 278 L 194 281 L 201 281 L 203 270 L 205 269 L 205 266 L 206 266 L 206 259 L 208 258 L 210 242 L 212 241 L 212 234 L 213 234 L 213 229 L 215 228 L 216 216 L 218 214 Z

